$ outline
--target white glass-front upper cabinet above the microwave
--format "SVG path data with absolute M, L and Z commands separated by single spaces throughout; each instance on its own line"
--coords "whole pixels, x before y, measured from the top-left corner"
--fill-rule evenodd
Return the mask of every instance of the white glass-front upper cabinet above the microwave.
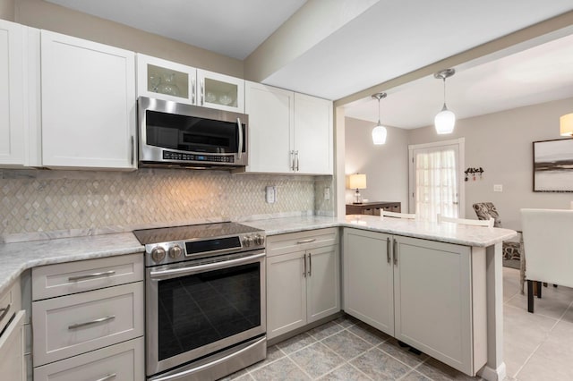
M 137 93 L 194 106 L 244 113 L 244 80 L 137 55 Z

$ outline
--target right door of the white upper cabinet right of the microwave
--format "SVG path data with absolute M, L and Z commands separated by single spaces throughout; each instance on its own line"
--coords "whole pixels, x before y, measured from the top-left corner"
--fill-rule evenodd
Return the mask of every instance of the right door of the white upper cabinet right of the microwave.
M 295 93 L 296 173 L 333 174 L 332 102 Z

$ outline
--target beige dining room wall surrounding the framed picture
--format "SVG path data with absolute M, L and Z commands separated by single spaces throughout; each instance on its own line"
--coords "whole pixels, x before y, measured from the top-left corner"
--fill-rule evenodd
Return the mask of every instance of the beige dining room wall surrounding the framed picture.
M 455 111 L 455 110 L 454 110 Z M 466 182 L 466 217 L 472 204 L 491 201 L 503 227 L 521 228 L 522 207 L 569 208 L 573 193 L 533 191 L 533 141 L 561 139 L 559 117 L 573 111 L 573 98 L 459 120 L 449 135 L 433 126 L 408 131 L 409 144 L 466 138 L 466 167 L 483 167 L 482 180 Z M 478 177 L 479 179 L 479 177 Z M 493 184 L 503 185 L 494 192 Z

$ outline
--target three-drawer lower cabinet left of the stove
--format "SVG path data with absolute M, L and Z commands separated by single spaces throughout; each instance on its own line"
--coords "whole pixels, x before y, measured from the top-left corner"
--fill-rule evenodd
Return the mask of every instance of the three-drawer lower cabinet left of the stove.
M 142 254 L 32 269 L 36 380 L 144 379 Z

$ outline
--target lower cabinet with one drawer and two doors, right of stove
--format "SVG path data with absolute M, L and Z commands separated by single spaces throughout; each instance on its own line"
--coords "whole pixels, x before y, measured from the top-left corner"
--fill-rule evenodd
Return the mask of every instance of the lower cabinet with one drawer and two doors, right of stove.
M 338 229 L 269 236 L 267 337 L 340 310 Z

